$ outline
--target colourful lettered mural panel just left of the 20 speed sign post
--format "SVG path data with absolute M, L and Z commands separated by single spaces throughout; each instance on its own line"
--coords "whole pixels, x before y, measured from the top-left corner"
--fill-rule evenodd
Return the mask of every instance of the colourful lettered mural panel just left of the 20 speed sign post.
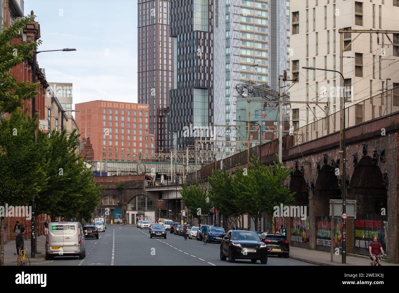
M 339 248 L 342 254 L 342 218 L 334 217 L 333 226 L 333 248 Z M 331 251 L 331 217 L 316 217 L 316 249 L 323 251 Z

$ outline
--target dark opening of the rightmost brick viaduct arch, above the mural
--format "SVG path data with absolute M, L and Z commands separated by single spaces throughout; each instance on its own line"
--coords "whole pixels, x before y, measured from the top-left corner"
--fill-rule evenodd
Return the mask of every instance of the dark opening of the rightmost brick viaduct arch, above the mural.
M 356 199 L 359 214 L 377 214 L 381 208 L 387 210 L 387 189 L 383 184 L 383 174 L 373 158 L 361 158 L 354 168 L 348 187 L 347 199 Z

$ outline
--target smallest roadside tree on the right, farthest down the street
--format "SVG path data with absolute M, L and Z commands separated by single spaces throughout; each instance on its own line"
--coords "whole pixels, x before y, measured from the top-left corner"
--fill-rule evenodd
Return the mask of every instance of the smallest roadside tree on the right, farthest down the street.
M 204 184 L 199 184 L 198 180 L 195 183 L 191 182 L 190 188 L 186 183 L 183 183 L 183 188 L 180 190 L 183 203 L 187 206 L 194 218 L 201 218 L 201 215 L 208 214 L 211 204 L 207 202 L 208 194 L 205 190 Z

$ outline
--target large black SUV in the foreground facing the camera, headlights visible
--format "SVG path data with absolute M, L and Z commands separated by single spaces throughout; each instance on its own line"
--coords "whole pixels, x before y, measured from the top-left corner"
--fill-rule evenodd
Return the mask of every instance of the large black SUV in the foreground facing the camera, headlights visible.
M 230 230 L 220 244 L 220 260 L 235 262 L 236 259 L 250 259 L 255 263 L 267 264 L 267 245 L 254 231 Z

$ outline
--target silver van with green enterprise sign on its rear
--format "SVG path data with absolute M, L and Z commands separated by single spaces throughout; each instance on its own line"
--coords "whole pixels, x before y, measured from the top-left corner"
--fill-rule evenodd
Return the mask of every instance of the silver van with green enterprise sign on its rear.
M 51 222 L 46 230 L 46 260 L 54 256 L 86 257 L 86 242 L 81 223 Z

